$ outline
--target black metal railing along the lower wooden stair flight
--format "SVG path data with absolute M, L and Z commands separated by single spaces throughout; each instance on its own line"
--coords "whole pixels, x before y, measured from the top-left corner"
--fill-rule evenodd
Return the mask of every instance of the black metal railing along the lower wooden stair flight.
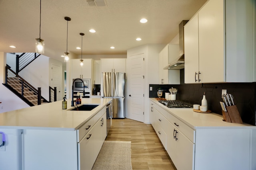
M 41 97 L 41 88 L 40 87 L 38 87 L 38 89 L 34 88 L 26 80 L 24 80 L 22 77 L 20 77 L 18 74 L 16 74 L 12 69 L 10 69 L 10 66 L 6 66 L 6 76 L 5 76 L 6 86 L 8 86 L 9 85 L 8 82 L 10 82 L 12 80 L 14 80 L 17 84 L 21 84 L 21 92 L 18 92 L 18 90 L 16 90 L 16 91 L 21 95 L 22 98 L 26 98 L 26 99 L 28 98 L 28 96 L 26 96 L 24 93 L 25 88 L 26 88 L 26 89 L 28 89 L 26 92 L 32 92 L 37 96 L 37 105 L 41 104 L 41 98 L 42 98 Z M 18 85 L 16 87 L 20 88 L 20 86 L 18 86 Z M 36 100 L 35 97 L 33 97 L 33 96 L 30 96 L 30 97 L 32 100 Z M 35 104 L 34 104 L 34 106 L 35 106 Z

